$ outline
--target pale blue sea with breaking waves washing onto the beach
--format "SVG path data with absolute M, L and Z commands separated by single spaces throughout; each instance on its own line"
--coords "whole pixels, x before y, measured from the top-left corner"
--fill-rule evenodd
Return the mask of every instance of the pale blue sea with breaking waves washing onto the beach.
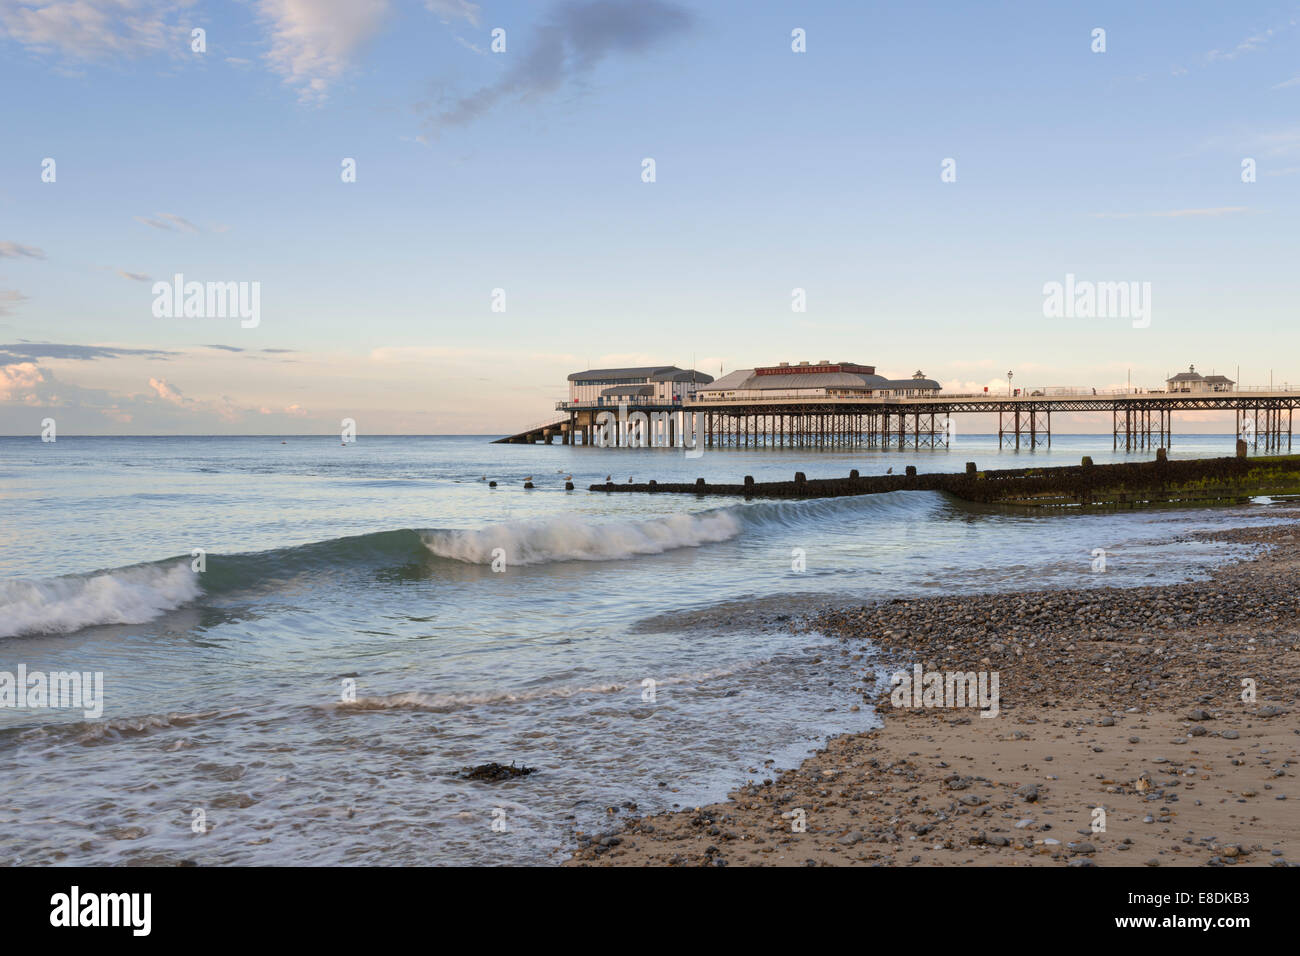
M 1268 502 L 1032 514 L 589 485 L 1153 454 L 1108 437 L 696 459 L 490 436 L 0 438 L 0 865 L 558 864 L 580 832 L 879 726 L 861 649 L 796 627 L 810 611 L 1196 580 L 1248 551 L 1191 532 L 1277 520 Z M 1175 436 L 1170 455 L 1232 446 Z M 81 698 L 30 692 L 72 672 Z M 467 773 L 486 763 L 529 773 Z

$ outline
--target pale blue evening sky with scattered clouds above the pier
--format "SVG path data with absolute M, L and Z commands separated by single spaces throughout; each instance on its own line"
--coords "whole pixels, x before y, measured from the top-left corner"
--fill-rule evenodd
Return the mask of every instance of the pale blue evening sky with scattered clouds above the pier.
M 0 0 L 0 434 L 507 433 L 625 364 L 1300 384 L 1300 3 Z

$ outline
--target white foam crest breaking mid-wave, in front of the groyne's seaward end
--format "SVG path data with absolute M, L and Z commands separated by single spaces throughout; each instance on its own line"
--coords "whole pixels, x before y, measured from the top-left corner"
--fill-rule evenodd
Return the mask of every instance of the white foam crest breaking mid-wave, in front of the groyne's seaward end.
M 562 516 L 494 524 L 473 531 L 424 532 L 425 548 L 467 564 L 490 564 L 500 548 L 508 566 L 552 561 L 619 561 L 727 541 L 741 532 L 731 511 L 670 515 L 649 522 L 590 522 Z

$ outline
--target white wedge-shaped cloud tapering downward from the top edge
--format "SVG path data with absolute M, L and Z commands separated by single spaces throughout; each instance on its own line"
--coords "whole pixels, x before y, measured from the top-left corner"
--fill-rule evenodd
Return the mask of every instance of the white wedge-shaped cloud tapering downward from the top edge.
M 270 30 L 266 62 L 298 88 L 299 100 L 320 103 L 390 9 L 389 0 L 259 0 Z

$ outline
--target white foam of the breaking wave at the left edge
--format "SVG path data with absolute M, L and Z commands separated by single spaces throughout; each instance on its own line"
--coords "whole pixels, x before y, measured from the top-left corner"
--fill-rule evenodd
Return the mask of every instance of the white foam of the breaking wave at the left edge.
M 69 633 L 94 624 L 140 624 L 199 596 L 188 561 L 103 574 L 0 581 L 0 637 Z

